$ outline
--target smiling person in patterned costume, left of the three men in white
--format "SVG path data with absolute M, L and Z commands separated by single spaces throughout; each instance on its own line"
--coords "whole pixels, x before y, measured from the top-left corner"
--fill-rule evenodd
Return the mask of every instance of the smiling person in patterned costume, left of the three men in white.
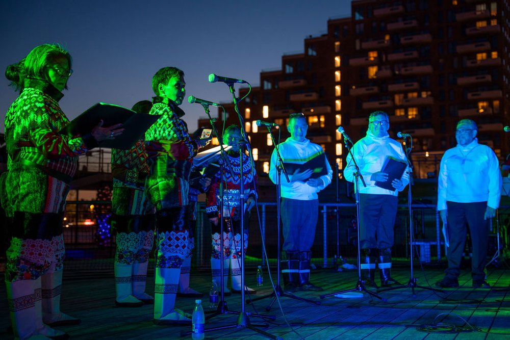
M 248 155 L 241 151 L 239 141 L 241 141 L 241 129 L 239 126 L 230 125 L 223 133 L 223 144 L 232 146 L 226 152 L 228 161 L 232 169 L 228 169 L 223 164 L 223 173 L 217 171 L 211 178 L 211 187 L 207 193 L 206 213 L 211 221 L 212 232 L 212 253 L 211 270 L 213 279 L 220 282 L 220 261 L 223 261 L 223 284 L 224 292 L 230 294 L 227 289 L 228 270 L 232 271 L 232 292 L 241 293 L 241 259 L 240 256 L 246 256 L 248 247 L 248 229 L 249 216 L 251 209 L 256 204 L 257 198 L 257 173 L 251 164 Z M 240 154 L 243 156 L 243 169 L 240 169 Z M 222 164 L 224 161 L 218 158 L 216 163 Z M 211 165 L 213 166 L 213 165 Z M 219 170 L 219 168 L 218 168 Z M 232 172 L 231 172 L 232 170 Z M 234 174 L 234 177 L 232 177 Z M 220 197 L 219 187 L 223 177 L 223 197 Z M 244 207 L 240 206 L 239 189 L 244 188 Z M 220 206 L 223 200 L 223 249 L 220 249 Z M 244 219 L 244 249 L 241 249 L 241 219 Z M 257 293 L 250 287 L 245 287 L 246 292 Z

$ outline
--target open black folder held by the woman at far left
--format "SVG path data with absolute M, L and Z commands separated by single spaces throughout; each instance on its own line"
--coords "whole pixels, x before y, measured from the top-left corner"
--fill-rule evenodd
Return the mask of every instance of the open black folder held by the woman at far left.
M 60 130 L 60 133 L 68 136 L 86 135 L 101 119 L 105 127 L 122 123 L 124 128 L 122 135 L 99 142 L 99 147 L 129 150 L 137 140 L 143 139 L 145 131 L 159 117 L 159 115 L 136 113 L 118 105 L 99 102 L 74 118 L 69 125 Z

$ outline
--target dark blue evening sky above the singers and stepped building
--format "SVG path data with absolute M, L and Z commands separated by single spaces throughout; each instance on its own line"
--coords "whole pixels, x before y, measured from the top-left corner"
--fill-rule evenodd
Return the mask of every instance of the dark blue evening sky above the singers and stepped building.
M 187 96 L 228 102 L 228 87 L 209 83 L 210 73 L 258 86 L 261 70 L 281 67 L 285 53 L 302 53 L 303 39 L 326 33 L 328 18 L 348 16 L 350 0 L 4 0 L 0 67 L 3 74 L 38 44 L 64 44 L 74 73 L 60 104 L 71 119 L 98 101 L 131 108 L 150 99 L 151 77 L 164 66 L 184 70 Z M 3 132 L 17 93 L 1 78 Z M 194 130 L 202 107 L 181 107 Z

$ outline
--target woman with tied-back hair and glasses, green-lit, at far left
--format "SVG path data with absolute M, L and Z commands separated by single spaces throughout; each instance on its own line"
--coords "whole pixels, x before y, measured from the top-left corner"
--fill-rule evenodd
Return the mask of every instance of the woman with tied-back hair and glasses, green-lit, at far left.
M 5 74 L 19 91 L 5 117 L 8 160 L 1 178 L 10 239 L 5 283 L 12 329 L 20 339 L 66 336 L 50 326 L 80 323 L 60 311 L 69 184 L 78 156 L 123 129 L 99 122 L 83 136 L 60 133 L 69 120 L 59 100 L 72 74 L 71 56 L 60 45 L 35 47 Z

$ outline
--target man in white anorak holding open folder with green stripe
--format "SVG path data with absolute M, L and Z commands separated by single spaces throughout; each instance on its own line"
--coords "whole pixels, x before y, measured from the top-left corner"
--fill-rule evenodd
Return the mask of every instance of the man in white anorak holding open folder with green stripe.
M 279 152 L 284 166 L 289 164 L 290 183 L 282 174 L 282 222 L 283 222 L 283 260 L 282 275 L 286 292 L 322 291 L 310 282 L 310 249 L 314 243 L 315 227 L 319 215 L 317 193 L 331 183 L 333 170 L 325 158 L 324 150 L 318 144 L 306 138 L 308 132 L 307 118 L 302 113 L 293 113 L 289 117 L 287 129 L 290 137 L 279 144 Z M 314 176 L 313 169 L 300 169 L 302 165 L 319 157 L 324 159 L 323 175 Z M 269 178 L 277 183 L 276 151 L 271 154 Z M 322 172 L 321 172 L 322 173 Z

